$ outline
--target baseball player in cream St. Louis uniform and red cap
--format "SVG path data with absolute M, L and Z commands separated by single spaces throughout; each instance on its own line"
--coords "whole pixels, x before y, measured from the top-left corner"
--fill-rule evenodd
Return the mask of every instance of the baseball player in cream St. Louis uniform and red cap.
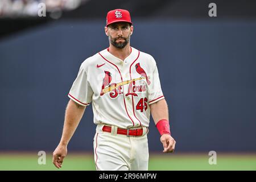
M 156 61 L 130 46 L 133 23 L 127 10 L 109 11 L 105 34 L 109 47 L 86 59 L 80 66 L 68 97 L 63 134 L 53 152 L 60 168 L 86 106 L 92 104 L 97 125 L 94 161 L 97 170 L 147 170 L 150 114 L 163 144 L 172 152 L 168 107 L 160 86 Z

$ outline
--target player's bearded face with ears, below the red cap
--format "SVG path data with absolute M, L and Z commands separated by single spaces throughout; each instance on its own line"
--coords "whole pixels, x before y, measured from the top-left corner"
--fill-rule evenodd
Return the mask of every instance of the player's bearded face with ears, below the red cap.
M 109 36 L 110 44 L 116 48 L 124 48 L 130 42 L 133 26 L 127 22 L 112 23 L 105 27 L 105 32 Z

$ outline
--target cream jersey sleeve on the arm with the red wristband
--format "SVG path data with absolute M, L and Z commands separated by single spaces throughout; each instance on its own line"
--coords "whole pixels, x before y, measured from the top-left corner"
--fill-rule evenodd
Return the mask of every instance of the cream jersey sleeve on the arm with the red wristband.
M 156 65 L 149 79 L 151 83 L 148 85 L 148 104 L 150 105 L 164 98 Z

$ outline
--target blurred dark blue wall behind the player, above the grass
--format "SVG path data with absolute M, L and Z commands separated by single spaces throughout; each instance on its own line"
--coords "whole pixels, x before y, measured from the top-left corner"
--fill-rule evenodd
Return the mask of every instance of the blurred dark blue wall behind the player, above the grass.
M 176 151 L 256 151 L 256 21 L 133 20 L 131 46 L 158 63 Z M 0 41 L 0 150 L 54 150 L 86 57 L 108 47 L 104 22 L 53 22 Z M 93 151 L 92 106 L 69 150 Z M 151 121 L 150 150 L 162 151 Z

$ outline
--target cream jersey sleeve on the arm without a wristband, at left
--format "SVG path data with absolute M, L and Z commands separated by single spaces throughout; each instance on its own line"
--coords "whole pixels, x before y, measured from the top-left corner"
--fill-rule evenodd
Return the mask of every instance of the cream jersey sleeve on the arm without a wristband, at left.
M 79 73 L 76 80 L 73 82 L 71 90 L 68 93 L 68 97 L 82 106 L 88 106 L 92 101 L 93 90 L 87 79 L 87 73 L 82 65 L 79 69 Z

